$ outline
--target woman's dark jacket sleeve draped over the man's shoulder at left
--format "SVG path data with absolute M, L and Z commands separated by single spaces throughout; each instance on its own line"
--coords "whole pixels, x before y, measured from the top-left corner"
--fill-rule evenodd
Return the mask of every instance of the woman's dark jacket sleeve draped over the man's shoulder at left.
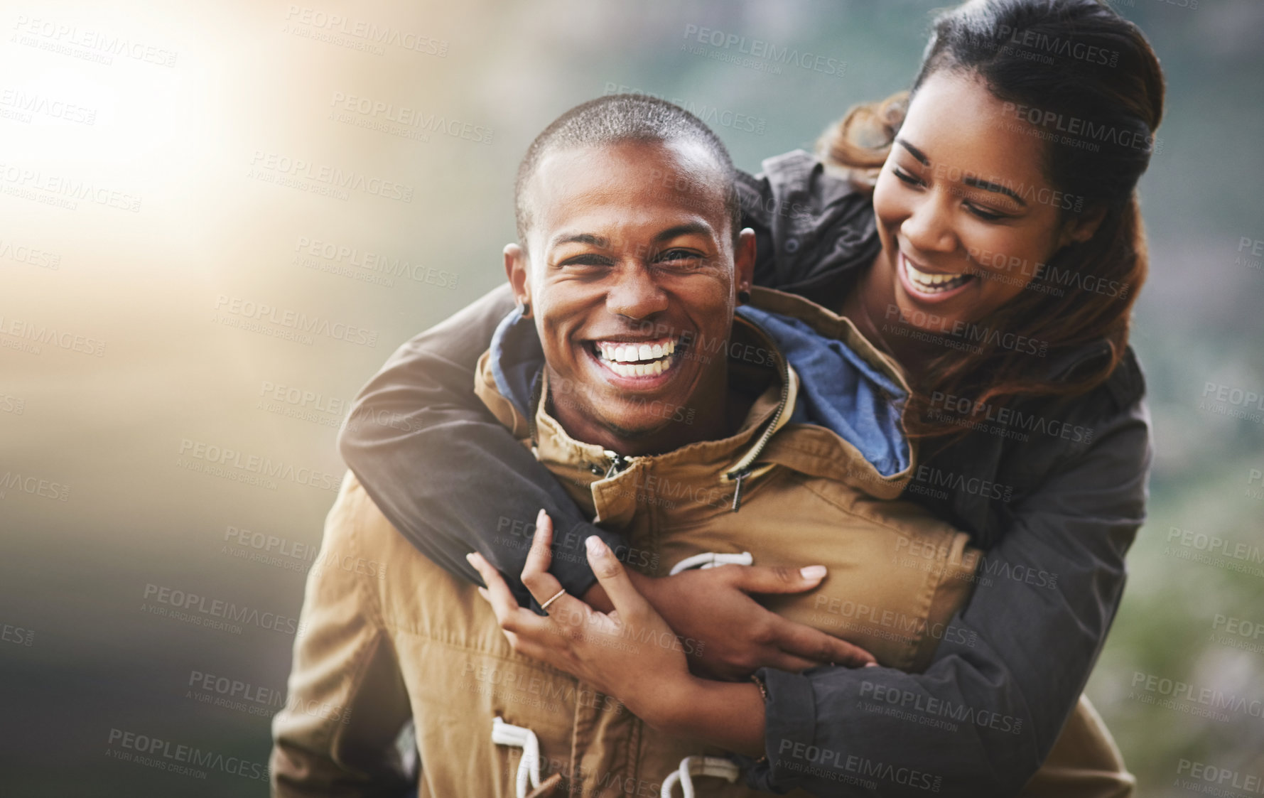
M 382 513 L 422 554 L 480 584 L 465 562 L 477 550 L 518 602 L 532 606 L 521 573 L 541 507 L 557 540 L 599 535 L 618 548 L 622 539 L 589 524 L 474 393 L 478 359 L 512 307 L 502 286 L 399 347 L 360 391 L 339 448 Z M 551 570 L 573 596 L 597 582 L 584 556 L 555 556 Z

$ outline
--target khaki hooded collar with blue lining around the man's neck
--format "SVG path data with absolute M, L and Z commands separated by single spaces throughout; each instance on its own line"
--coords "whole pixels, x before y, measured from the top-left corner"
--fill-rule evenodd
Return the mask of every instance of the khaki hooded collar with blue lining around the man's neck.
M 908 384 L 851 321 L 801 297 L 755 288 L 727 344 L 731 387 L 758 395 L 746 420 L 724 439 L 652 458 L 622 458 L 574 440 L 547 412 L 541 397 L 565 401 L 566 388 L 549 384 L 535 325 L 518 309 L 501 322 L 479 360 L 475 391 L 516 436 L 532 443 L 542 462 L 574 479 L 608 479 L 638 460 L 662 468 L 705 465 L 720 482 L 736 483 L 737 508 L 746 477 L 782 464 L 875 496 L 899 493 L 913 468 L 901 424 Z M 800 431 L 777 435 L 791 425 Z

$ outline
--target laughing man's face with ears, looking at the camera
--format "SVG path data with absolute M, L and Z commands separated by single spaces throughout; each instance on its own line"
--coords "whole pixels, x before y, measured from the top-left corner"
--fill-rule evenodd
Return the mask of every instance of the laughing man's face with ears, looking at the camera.
M 724 186 L 690 142 L 561 149 L 540 162 L 527 187 L 530 257 L 511 244 L 506 269 L 531 305 L 554 412 L 578 439 L 645 440 L 674 407 L 723 416 L 722 343 L 755 259 L 746 233 L 734 273 Z

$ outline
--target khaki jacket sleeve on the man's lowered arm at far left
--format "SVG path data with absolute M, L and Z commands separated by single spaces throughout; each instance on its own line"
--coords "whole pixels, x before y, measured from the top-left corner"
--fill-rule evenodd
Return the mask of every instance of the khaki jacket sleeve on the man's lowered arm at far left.
M 412 711 L 375 593 L 364 584 L 372 577 L 334 564 L 359 556 L 364 494 L 349 494 L 349 483 L 307 575 L 286 707 L 272 721 L 273 798 L 412 794 L 411 768 L 396 747 Z

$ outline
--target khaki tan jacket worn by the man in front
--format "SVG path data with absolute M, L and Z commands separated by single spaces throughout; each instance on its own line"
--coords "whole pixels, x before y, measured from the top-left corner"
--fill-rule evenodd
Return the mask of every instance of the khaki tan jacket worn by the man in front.
M 842 340 L 904 384 L 847 320 L 787 295 L 761 291 L 757 301 Z M 733 341 L 742 345 L 729 353 L 771 354 L 758 365 L 731 357 L 731 384 L 757 396 L 744 422 L 726 439 L 656 457 L 622 459 L 576 441 L 545 402 L 523 417 L 498 391 L 490 353 L 475 388 L 597 522 L 624 535 L 627 548 L 617 554 L 629 567 L 666 575 L 690 558 L 714 555 L 824 564 L 829 577 L 819 588 L 767 606 L 856 642 L 884 666 L 925 668 L 938 641 L 954 634 L 949 621 L 968 599 L 978 551 L 963 532 L 895 501 L 915 468 L 911 453 L 906 468 L 884 476 L 838 434 L 790 422 L 799 376 L 776 343 L 743 319 L 734 321 Z M 565 401 L 565 392 L 551 396 Z M 504 543 L 527 546 L 530 539 Z M 410 716 L 420 795 L 657 795 L 690 756 L 714 758 L 695 760 L 714 773 L 693 777 L 695 794 L 756 794 L 741 777 L 729 783 L 737 774 L 723 766 L 724 751 L 659 732 L 613 697 L 514 654 L 474 587 L 420 555 L 350 474 L 322 546 L 344 559 L 389 563 L 391 577 L 326 570 L 308 579 L 306 631 L 289 680 L 292 699 L 301 701 L 292 703 L 340 707 L 334 715 L 345 722 L 291 709 L 277 716 L 274 794 L 391 794 L 412 754 L 393 745 Z M 581 541 L 559 540 L 555 556 L 584 556 Z M 696 641 L 633 632 L 626 645 L 688 650 Z M 1130 790 L 1109 732 L 1082 701 L 1024 794 Z

